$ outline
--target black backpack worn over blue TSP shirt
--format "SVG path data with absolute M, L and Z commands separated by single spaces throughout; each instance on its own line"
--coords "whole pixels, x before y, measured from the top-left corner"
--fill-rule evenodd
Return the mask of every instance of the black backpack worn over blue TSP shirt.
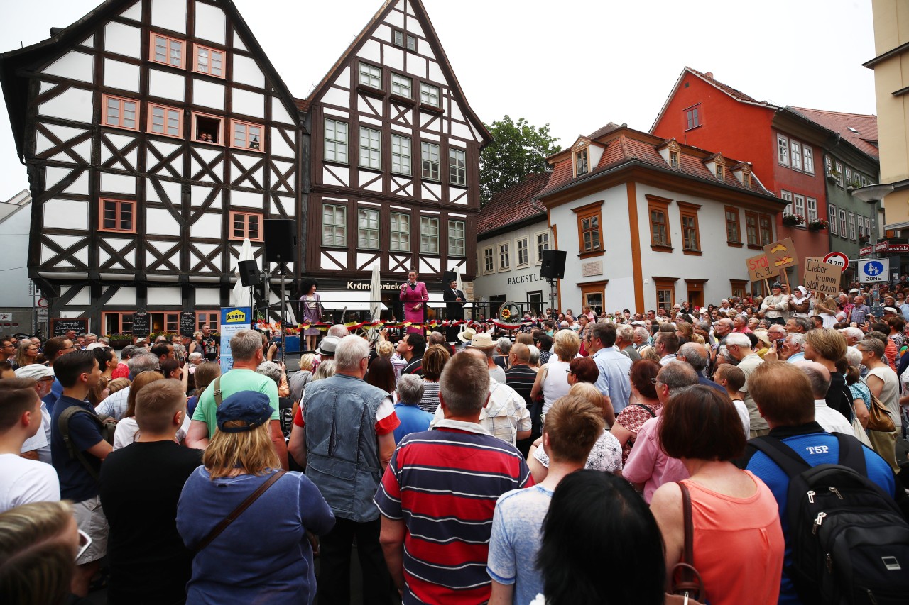
M 905 603 L 909 524 L 894 499 L 867 478 L 864 446 L 833 434 L 838 463 L 814 467 L 774 437 L 749 441 L 789 476 L 786 574 L 805 605 Z

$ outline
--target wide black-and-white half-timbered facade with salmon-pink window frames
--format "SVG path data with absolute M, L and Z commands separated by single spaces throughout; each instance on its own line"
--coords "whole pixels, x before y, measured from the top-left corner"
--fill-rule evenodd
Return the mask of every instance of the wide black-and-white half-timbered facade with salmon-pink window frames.
M 264 220 L 303 216 L 302 116 L 228 0 L 108 0 L 0 55 L 0 81 L 51 316 L 98 333 L 130 332 L 140 308 L 153 331 L 181 311 L 216 323 L 243 240 L 262 268 Z

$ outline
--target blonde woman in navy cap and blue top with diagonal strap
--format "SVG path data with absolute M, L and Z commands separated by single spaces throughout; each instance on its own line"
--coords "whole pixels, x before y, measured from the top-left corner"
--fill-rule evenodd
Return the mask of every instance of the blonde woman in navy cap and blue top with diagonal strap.
M 281 470 L 265 393 L 235 392 L 215 413 L 218 430 L 177 505 L 177 531 L 195 550 L 186 602 L 311 603 L 309 535 L 330 531 L 335 515 L 304 474 Z

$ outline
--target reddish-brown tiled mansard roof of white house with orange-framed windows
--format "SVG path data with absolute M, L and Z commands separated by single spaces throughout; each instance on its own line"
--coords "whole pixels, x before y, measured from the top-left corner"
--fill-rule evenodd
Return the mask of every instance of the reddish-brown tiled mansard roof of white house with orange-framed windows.
M 707 183 L 719 184 L 764 195 L 773 198 L 776 201 L 781 201 L 778 200 L 773 193 L 764 189 L 764 186 L 756 178 L 751 179 L 750 186 L 748 187 L 739 183 L 738 179 L 734 176 L 724 178 L 723 181 L 720 181 L 705 165 L 705 162 L 708 162 L 711 158 L 715 158 L 718 154 L 712 154 L 711 152 L 698 149 L 697 147 L 679 144 L 679 147 L 681 148 L 679 165 L 678 167 L 673 167 L 664 160 L 663 155 L 659 152 L 659 149 L 664 148 L 667 141 L 656 137 L 653 134 L 647 134 L 628 128 L 627 126 L 621 126 L 618 129 L 611 131 L 609 134 L 599 137 L 597 143 L 604 144 L 605 146 L 603 156 L 600 158 L 599 164 L 597 164 L 590 173 L 584 174 L 583 176 L 574 177 L 570 154 L 551 160 L 555 164 L 552 176 L 549 177 L 549 182 L 546 183 L 545 188 L 537 193 L 537 198 L 542 199 L 550 193 L 566 189 L 573 186 L 574 183 L 582 183 L 586 180 L 595 178 L 599 174 L 612 171 L 624 164 L 638 164 L 658 168 L 664 172 L 675 172 Z M 678 144 L 677 141 L 676 144 Z M 742 164 L 739 160 L 728 157 L 724 157 L 724 160 L 726 165 Z

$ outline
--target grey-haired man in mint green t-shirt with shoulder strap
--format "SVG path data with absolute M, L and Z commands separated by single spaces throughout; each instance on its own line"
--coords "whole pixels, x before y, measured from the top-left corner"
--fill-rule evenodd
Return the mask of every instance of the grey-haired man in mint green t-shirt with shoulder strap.
M 262 335 L 255 330 L 241 330 L 230 339 L 230 351 L 234 357 L 234 367 L 230 372 L 222 374 L 208 385 L 199 395 L 199 402 L 193 412 L 193 421 L 190 422 L 189 431 L 186 433 L 186 445 L 197 450 L 205 450 L 208 440 L 212 438 L 218 428 L 215 412 L 222 401 L 235 392 L 255 391 L 268 396 L 268 403 L 272 406 L 272 418 L 269 422 L 272 443 L 275 444 L 275 453 L 281 466 L 287 468 L 287 444 L 284 432 L 281 431 L 280 416 L 278 415 L 278 387 L 275 381 L 255 372 L 256 368 L 265 361 L 262 352 Z

